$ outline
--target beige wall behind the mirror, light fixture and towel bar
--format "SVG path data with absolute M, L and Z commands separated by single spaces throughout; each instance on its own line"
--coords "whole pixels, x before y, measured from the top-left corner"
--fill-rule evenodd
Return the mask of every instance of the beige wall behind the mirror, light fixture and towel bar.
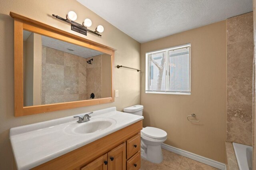
M 79 23 L 84 18 L 90 18 L 93 23 L 90 27 L 92 30 L 98 25 L 103 25 L 102 37 L 90 33 L 88 33 L 88 36 L 83 36 L 70 30 L 69 24 L 52 17 L 52 14 L 65 17 L 65 14 L 70 10 L 76 12 Z M 114 103 L 14 117 L 14 21 L 9 16 L 10 11 L 117 49 L 115 65 L 140 67 L 140 43 L 79 4 L 76 0 L 2 0 L 0 6 L 0 169 L 12 169 L 12 150 L 9 141 L 9 130 L 12 127 L 107 107 L 116 106 L 117 110 L 121 111 L 124 107 L 140 104 L 140 73 L 115 67 L 114 87 L 119 90 L 119 97 L 115 98 Z

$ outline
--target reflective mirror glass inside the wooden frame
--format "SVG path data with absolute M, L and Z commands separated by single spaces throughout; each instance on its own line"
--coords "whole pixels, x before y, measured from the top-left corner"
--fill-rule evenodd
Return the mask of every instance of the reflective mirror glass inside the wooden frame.
M 111 97 L 111 56 L 23 30 L 23 105 Z

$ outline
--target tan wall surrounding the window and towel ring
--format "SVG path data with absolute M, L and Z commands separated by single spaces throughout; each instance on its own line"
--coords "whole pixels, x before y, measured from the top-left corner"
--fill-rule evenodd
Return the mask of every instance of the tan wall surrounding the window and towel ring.
M 186 43 L 191 43 L 191 95 L 145 93 L 145 53 Z M 165 130 L 168 145 L 225 162 L 226 21 L 143 43 L 140 62 L 143 126 Z M 200 123 L 186 119 L 192 113 Z

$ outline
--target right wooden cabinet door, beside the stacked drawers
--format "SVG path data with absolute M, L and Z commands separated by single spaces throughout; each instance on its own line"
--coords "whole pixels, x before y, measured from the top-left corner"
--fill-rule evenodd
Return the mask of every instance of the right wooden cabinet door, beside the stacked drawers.
M 126 144 L 120 144 L 108 152 L 108 170 L 126 169 Z

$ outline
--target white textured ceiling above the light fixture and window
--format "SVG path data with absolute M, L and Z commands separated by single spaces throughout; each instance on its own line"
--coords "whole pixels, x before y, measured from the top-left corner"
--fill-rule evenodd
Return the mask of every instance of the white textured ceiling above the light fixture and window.
M 252 11 L 252 0 L 77 1 L 140 43 Z

